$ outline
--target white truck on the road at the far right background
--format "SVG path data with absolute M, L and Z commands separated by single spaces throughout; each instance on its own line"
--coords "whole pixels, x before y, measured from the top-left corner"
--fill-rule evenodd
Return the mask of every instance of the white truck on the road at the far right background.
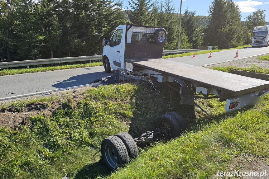
M 254 27 L 252 32 L 252 47 L 269 46 L 269 26 Z

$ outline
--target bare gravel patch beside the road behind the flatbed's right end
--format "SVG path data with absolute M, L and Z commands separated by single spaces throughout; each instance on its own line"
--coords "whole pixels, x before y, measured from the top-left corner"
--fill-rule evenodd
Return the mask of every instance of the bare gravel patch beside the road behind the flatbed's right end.
M 269 53 L 264 54 L 264 55 L 269 55 Z M 233 66 L 233 67 L 249 68 L 251 64 L 255 64 L 255 66 L 259 66 L 258 68 L 269 68 L 269 61 L 257 59 L 257 57 L 264 56 L 264 55 L 249 57 L 246 59 L 238 59 L 238 60 L 224 62 L 224 63 L 220 63 L 220 64 L 208 65 L 208 66 L 204 66 L 204 67 L 205 68 L 213 68 L 213 67 Z

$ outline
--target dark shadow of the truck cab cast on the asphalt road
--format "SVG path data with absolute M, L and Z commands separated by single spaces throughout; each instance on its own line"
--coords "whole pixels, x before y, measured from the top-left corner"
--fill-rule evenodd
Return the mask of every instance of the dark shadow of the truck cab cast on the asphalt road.
M 86 84 L 93 83 L 94 80 L 97 78 L 112 76 L 113 72 L 112 73 L 95 72 L 95 73 L 86 73 L 86 74 L 82 74 L 82 75 L 76 75 L 76 76 L 70 77 L 68 80 L 56 81 L 55 84 L 52 85 L 52 87 L 60 89 L 60 88 L 86 85 Z

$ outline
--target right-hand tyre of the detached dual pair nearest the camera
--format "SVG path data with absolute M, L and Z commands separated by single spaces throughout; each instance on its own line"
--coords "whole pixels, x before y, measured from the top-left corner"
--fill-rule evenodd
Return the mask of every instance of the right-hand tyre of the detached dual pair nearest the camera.
M 127 132 L 120 132 L 115 136 L 120 138 L 124 143 L 125 147 L 127 148 L 129 158 L 138 158 L 137 145 L 130 134 Z

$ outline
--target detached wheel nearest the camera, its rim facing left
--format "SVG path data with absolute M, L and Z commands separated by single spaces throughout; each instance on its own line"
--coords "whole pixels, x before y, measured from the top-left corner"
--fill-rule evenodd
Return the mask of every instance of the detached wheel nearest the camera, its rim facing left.
M 129 162 L 127 149 L 122 140 L 117 136 L 103 139 L 101 153 L 106 166 L 112 171 Z

